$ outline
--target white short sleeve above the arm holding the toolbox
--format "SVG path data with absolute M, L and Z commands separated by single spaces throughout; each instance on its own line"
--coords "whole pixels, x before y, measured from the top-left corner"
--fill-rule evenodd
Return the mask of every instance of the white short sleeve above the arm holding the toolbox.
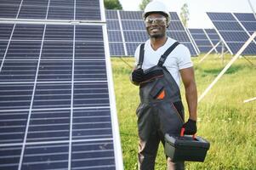
M 191 52 L 185 45 L 179 45 L 178 66 L 179 70 L 193 66 Z

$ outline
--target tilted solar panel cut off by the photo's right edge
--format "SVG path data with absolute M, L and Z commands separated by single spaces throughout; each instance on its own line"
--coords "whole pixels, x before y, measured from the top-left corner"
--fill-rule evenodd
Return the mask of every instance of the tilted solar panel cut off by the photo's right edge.
M 219 36 L 225 42 L 230 54 L 236 54 L 242 45 L 247 41 L 253 29 L 248 32 L 245 26 L 242 26 L 241 20 L 252 19 L 251 14 L 232 14 L 232 13 L 207 13 L 213 21 Z M 255 20 L 255 19 L 254 19 Z M 253 21 L 254 22 L 254 21 Z M 255 30 L 254 30 L 255 31 Z M 256 42 L 251 42 L 242 54 L 256 54 Z

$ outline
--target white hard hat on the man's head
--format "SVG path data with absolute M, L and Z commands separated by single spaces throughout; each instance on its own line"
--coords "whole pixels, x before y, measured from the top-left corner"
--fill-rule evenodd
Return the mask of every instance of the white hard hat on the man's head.
M 168 11 L 168 7 L 160 2 L 160 1 L 152 1 L 151 3 L 148 3 L 146 6 L 145 6 L 145 10 L 144 10 L 144 13 L 142 14 L 143 16 L 143 19 L 145 20 L 145 17 L 147 16 L 148 13 L 154 13 L 154 12 L 159 12 L 159 13 L 163 13 L 163 14 L 166 14 L 167 16 L 167 24 L 170 23 L 170 20 L 171 20 L 171 16 L 170 16 L 170 13 Z

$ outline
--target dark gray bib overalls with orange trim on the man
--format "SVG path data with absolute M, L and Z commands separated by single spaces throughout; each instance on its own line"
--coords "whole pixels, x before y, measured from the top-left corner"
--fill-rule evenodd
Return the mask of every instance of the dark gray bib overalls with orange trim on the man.
M 161 141 L 164 145 L 164 134 L 179 135 L 184 123 L 184 108 L 179 86 L 163 66 L 168 54 L 177 45 L 179 42 L 175 42 L 162 54 L 157 65 L 145 70 L 145 81 L 139 83 L 140 104 L 136 114 L 139 129 L 140 170 L 154 169 L 158 144 Z M 138 68 L 143 64 L 144 46 L 145 44 L 140 46 Z M 184 169 L 184 162 L 172 162 L 168 158 L 168 169 Z

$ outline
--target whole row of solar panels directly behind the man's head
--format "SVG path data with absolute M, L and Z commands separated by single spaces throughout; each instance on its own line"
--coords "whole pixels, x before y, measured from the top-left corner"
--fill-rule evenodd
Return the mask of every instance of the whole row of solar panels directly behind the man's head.
M 142 20 L 142 11 L 105 10 L 107 30 L 112 56 L 133 56 L 135 49 L 149 37 Z M 171 23 L 168 26 L 168 37 L 183 43 L 196 55 L 197 51 L 188 36 L 177 13 L 171 12 Z

